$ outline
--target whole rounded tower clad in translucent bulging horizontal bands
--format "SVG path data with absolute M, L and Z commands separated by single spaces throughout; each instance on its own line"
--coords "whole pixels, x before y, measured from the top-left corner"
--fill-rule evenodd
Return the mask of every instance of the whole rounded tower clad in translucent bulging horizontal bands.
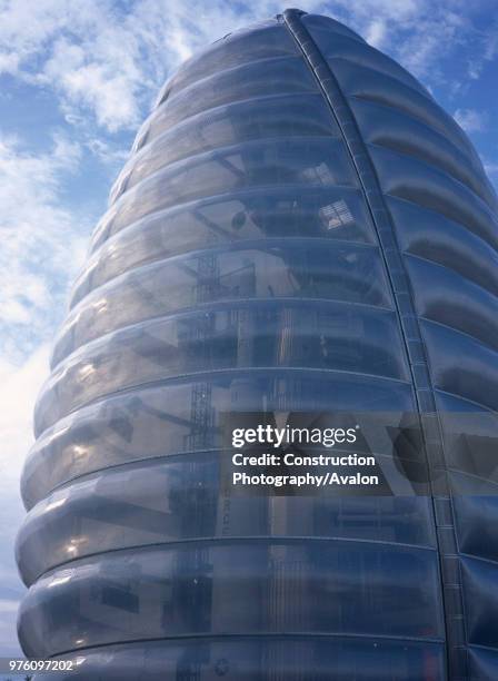
M 37 404 L 26 654 L 68 679 L 496 681 L 498 475 L 472 447 L 498 432 L 497 246 L 466 135 L 345 26 L 287 10 L 187 61 Z M 223 414 L 345 409 L 415 413 L 430 494 L 221 494 Z

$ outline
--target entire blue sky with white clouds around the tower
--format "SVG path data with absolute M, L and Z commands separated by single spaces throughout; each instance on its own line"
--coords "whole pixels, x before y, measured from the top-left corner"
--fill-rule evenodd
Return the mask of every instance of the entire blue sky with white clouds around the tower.
M 18 653 L 18 481 L 50 342 L 107 193 L 168 75 L 272 0 L 0 0 L 0 655 Z M 430 89 L 498 185 L 496 0 L 303 1 Z

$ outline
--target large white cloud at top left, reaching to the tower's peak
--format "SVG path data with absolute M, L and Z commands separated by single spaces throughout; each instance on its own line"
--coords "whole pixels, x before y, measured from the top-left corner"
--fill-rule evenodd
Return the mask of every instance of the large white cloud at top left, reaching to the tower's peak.
M 52 88 L 67 116 L 90 111 L 113 132 L 137 127 L 168 71 L 192 49 L 279 6 L 137 0 L 127 13 L 109 0 L 38 0 L 32 8 L 27 0 L 7 3 L 0 69 Z

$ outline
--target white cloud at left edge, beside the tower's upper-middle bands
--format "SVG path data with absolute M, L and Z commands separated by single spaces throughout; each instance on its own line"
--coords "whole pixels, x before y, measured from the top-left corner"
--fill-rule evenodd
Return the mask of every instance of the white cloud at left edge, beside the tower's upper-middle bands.
M 60 135 L 40 155 L 0 137 L 0 351 L 8 361 L 22 361 L 53 333 L 82 260 L 80 219 L 61 203 L 63 177 L 77 170 L 80 154 Z

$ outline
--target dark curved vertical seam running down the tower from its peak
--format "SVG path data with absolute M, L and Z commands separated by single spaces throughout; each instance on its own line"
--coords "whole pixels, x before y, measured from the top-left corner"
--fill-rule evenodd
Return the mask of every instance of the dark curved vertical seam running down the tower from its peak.
M 342 135 L 357 171 L 385 260 L 412 377 L 429 468 L 442 584 L 442 604 L 446 615 L 447 672 L 448 678 L 452 681 L 465 681 L 468 679 L 467 635 L 455 516 L 442 446 L 441 425 L 436 408 L 421 329 L 391 216 L 384 199 L 374 162 L 332 70 L 308 29 L 300 21 L 300 17 L 305 13 L 301 10 L 289 9 L 283 12 L 282 19 L 318 81 Z

